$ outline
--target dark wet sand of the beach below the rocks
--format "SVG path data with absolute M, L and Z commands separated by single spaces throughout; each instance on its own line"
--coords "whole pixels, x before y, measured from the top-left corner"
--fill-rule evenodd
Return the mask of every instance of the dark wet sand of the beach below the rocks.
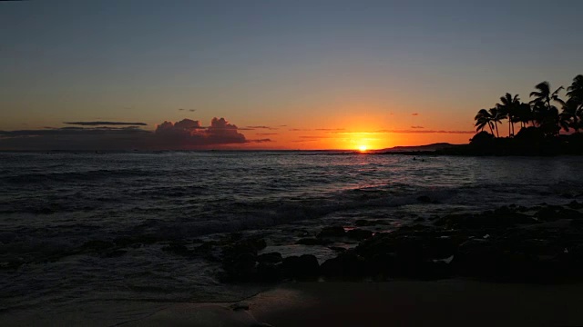
M 243 303 L 182 303 L 122 326 L 580 326 L 583 283 L 294 282 Z M 256 319 L 253 319 L 253 317 Z

